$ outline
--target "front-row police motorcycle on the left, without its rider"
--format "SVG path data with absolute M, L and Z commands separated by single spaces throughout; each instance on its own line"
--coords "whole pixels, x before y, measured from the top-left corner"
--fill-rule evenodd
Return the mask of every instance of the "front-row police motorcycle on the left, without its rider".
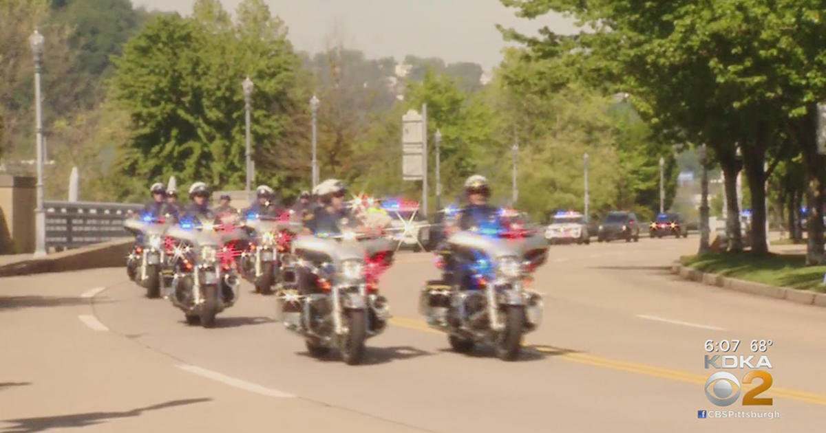
M 284 326 L 304 337 L 311 355 L 338 349 L 344 362 L 358 365 L 365 341 L 382 333 L 390 318 L 377 284 L 392 264 L 392 242 L 353 231 L 300 235 L 292 253 L 301 286 L 283 289 L 278 297 Z

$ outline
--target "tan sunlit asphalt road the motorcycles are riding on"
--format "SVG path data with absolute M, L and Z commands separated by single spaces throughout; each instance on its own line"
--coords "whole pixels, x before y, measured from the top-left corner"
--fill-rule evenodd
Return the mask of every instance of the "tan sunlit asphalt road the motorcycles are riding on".
M 145 299 L 122 269 L 3 278 L 0 432 L 821 430 L 826 309 L 668 274 L 696 244 L 551 247 L 534 284 L 544 323 L 516 362 L 453 353 L 425 327 L 419 289 L 437 275 L 427 253 L 400 254 L 384 276 L 392 326 L 359 366 L 311 358 L 273 322 L 275 300 L 246 284 L 203 329 Z M 706 399 L 709 339 L 742 341 L 737 355 L 751 355 L 752 339 L 773 342 L 773 384 L 759 396 L 772 406 Z M 697 417 L 717 409 L 779 417 Z

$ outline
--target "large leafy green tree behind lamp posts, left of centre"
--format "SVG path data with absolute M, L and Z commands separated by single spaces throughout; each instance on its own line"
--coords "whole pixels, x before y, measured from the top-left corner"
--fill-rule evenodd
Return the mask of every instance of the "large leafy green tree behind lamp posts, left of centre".
M 241 2 L 231 23 L 216 2 L 198 2 L 195 10 L 187 18 L 155 16 L 116 59 L 116 95 L 132 123 L 121 172 L 138 185 L 175 175 L 182 183 L 242 188 L 240 83 L 249 76 L 256 181 L 291 187 L 297 175 L 267 158 L 291 147 L 293 114 L 303 106 L 298 58 L 282 22 L 259 0 Z

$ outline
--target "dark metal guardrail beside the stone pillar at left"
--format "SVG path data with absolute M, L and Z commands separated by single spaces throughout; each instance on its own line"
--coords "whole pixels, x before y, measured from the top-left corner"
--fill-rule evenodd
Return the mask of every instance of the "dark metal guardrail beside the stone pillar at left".
M 123 220 L 143 205 L 45 201 L 46 247 L 77 248 L 131 236 Z

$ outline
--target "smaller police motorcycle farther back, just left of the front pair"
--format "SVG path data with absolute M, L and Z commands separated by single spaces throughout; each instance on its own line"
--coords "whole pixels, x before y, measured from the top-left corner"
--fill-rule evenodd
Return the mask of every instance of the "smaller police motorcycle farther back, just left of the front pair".
M 244 277 L 255 285 L 255 292 L 272 294 L 283 278 L 294 283 L 294 273 L 282 272 L 285 264 L 292 263 L 290 245 L 301 232 L 301 222 L 291 219 L 290 214 L 267 217 L 253 212 L 244 215 L 244 228 L 250 237 L 249 247 L 241 254 Z

